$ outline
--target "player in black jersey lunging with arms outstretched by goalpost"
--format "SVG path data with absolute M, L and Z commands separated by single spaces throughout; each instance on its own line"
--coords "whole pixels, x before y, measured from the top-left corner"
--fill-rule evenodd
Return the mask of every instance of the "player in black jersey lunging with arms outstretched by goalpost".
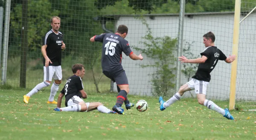
M 199 64 L 195 76 L 192 76 L 192 80 L 181 86 L 179 91 L 175 95 L 173 95 L 172 98 L 170 98 L 168 101 L 163 101 L 163 98 L 160 96 L 160 110 L 163 111 L 171 104 L 175 103 L 175 101 L 180 100 L 184 92 L 189 90 L 195 90 L 199 104 L 207 106 L 207 108 L 220 113 L 227 119 L 234 120 L 228 109 L 222 109 L 214 104 L 212 101 L 205 99 L 205 95 L 207 85 L 209 84 L 209 81 L 211 79 L 210 73 L 218 63 L 218 60 L 223 60 L 226 63 L 232 63 L 236 59 L 236 56 L 232 55 L 227 58 L 221 50 L 214 46 L 215 36 L 212 32 L 204 34 L 203 39 L 206 48 L 201 53 L 201 58 L 187 59 L 185 56 L 178 57 L 181 63 Z

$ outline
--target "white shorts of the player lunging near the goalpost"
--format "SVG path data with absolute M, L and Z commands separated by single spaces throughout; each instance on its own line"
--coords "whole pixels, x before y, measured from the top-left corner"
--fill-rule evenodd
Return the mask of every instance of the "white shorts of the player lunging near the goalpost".
M 199 81 L 197 79 L 192 78 L 186 84 L 188 84 L 191 90 L 195 90 L 196 94 L 206 94 L 207 85 L 209 84 L 209 82 Z

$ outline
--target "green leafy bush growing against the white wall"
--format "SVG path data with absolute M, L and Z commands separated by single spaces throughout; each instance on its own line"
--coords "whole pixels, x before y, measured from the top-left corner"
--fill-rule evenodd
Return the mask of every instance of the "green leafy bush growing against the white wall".
M 143 37 L 144 42 L 140 42 L 145 45 L 145 48 L 137 48 L 148 58 L 153 59 L 152 64 L 142 64 L 141 67 L 154 67 L 154 71 L 151 76 L 153 77 L 151 82 L 153 84 L 153 95 L 168 95 L 168 93 L 175 87 L 175 70 L 173 65 L 176 62 L 175 50 L 177 49 L 177 38 L 172 39 L 169 36 L 153 37 L 151 29 L 148 24 L 143 20 L 143 24 L 146 25 L 148 31 Z

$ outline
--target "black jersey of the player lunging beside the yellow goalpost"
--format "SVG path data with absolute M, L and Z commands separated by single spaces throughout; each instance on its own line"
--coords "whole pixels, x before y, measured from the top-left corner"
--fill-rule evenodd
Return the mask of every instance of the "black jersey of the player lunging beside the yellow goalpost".
M 198 70 L 192 78 L 209 82 L 211 80 L 210 73 L 218 63 L 218 60 L 226 60 L 227 56 L 225 56 L 225 54 L 215 46 L 205 48 L 201 53 L 201 56 L 206 56 L 207 60 L 198 65 Z

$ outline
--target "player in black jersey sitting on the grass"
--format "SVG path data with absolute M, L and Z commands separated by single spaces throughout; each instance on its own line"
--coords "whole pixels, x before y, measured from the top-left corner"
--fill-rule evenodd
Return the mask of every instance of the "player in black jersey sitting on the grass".
M 74 64 L 72 66 L 73 76 L 68 78 L 66 84 L 58 96 L 58 104 L 55 111 L 72 111 L 72 112 L 88 112 L 98 109 L 102 113 L 116 113 L 103 106 L 99 102 L 85 103 L 81 98 L 87 98 L 87 93 L 84 92 L 82 78 L 84 77 L 84 66 L 82 64 Z M 65 95 L 65 106 L 61 107 L 61 100 Z

